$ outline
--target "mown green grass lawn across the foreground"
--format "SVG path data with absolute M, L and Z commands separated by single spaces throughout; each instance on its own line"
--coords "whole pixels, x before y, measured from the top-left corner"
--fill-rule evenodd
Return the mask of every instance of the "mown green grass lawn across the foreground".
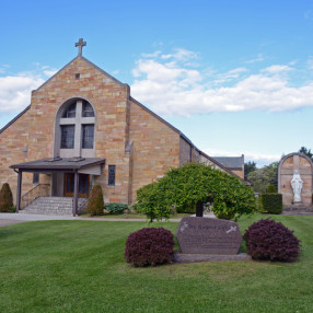
M 242 232 L 266 216 L 239 221 Z M 132 268 L 146 222 L 42 221 L 0 228 L 0 312 L 313 312 L 313 217 L 275 216 L 302 241 L 291 264 Z M 153 223 L 175 233 L 178 223 Z

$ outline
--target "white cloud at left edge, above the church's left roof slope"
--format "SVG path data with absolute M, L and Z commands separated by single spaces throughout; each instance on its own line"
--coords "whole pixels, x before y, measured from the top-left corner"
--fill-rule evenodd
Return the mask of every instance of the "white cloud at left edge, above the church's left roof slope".
M 31 103 L 31 92 L 44 80 L 33 76 L 0 77 L 0 112 L 19 113 Z

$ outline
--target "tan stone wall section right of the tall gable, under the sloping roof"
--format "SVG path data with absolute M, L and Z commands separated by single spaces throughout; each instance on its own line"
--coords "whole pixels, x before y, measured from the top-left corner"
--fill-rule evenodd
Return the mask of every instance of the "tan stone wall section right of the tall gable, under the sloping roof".
M 135 102 L 130 102 L 134 142 L 132 200 L 136 190 L 179 166 L 179 135 Z

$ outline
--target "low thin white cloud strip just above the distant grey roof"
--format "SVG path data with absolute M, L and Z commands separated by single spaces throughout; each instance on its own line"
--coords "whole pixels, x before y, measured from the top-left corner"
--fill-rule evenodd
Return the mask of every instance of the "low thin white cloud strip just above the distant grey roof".
M 241 156 L 241 154 L 244 154 L 244 162 L 255 162 L 257 167 L 268 165 L 281 159 L 281 154 L 256 153 L 252 151 L 242 151 L 242 153 L 239 154 L 237 152 L 228 150 L 205 149 L 204 152 L 210 156 Z

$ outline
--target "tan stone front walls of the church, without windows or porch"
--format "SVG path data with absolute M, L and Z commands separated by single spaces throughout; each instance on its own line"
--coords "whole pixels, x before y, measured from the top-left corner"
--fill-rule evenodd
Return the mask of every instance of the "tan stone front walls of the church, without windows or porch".
M 179 130 L 134 100 L 127 84 L 79 55 L 33 91 L 31 105 L 0 130 L 0 183 L 9 183 L 14 197 L 18 175 L 9 166 L 57 156 L 60 126 L 56 118 L 72 98 L 89 102 L 95 112 L 93 156 L 106 161 L 101 174 L 90 182 L 101 184 L 106 202 L 132 204 L 138 188 L 164 175 L 169 167 L 189 161 L 207 162 L 228 171 Z M 108 186 L 108 165 L 116 166 L 114 186 Z M 51 187 L 50 194 L 63 196 L 62 175 L 40 173 L 39 183 L 59 185 L 60 188 Z M 23 173 L 22 195 L 31 188 L 33 174 Z

